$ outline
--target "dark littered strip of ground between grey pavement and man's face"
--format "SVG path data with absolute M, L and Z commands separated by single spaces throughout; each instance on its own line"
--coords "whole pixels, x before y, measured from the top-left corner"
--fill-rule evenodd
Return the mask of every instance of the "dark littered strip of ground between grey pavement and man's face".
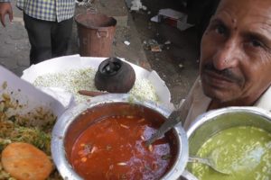
M 172 102 L 180 103 L 198 76 L 199 45 L 196 28 L 180 31 L 166 23 L 150 21 L 159 9 L 180 7 L 179 1 L 142 0 L 142 2 L 148 10 L 133 14 L 139 37 L 142 42 L 156 40 L 163 47 L 161 52 L 145 49 L 145 56 L 152 69 L 158 72 L 170 89 Z M 171 43 L 164 45 L 166 41 Z

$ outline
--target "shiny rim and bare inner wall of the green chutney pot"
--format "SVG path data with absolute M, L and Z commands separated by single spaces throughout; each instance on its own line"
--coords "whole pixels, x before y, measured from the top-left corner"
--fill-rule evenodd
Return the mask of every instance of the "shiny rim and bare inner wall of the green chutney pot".
M 220 130 L 235 126 L 271 132 L 271 113 L 257 107 L 228 107 L 201 114 L 187 130 L 189 155 L 195 156 L 203 143 Z

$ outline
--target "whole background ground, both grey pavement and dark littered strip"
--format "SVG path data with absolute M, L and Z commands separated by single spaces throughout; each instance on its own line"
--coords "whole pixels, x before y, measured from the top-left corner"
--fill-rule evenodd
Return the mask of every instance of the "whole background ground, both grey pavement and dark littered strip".
M 195 45 L 195 31 L 193 28 L 180 31 L 167 24 L 150 21 L 160 8 L 174 6 L 174 4 L 168 5 L 173 1 L 165 4 L 162 0 L 155 0 L 155 5 L 146 4 L 147 11 L 133 14 L 128 13 L 123 0 L 96 0 L 94 2 L 96 4 L 93 5 L 99 13 L 117 18 L 117 30 L 111 56 L 126 58 L 141 67 L 156 70 L 168 85 L 173 103 L 179 103 L 198 75 L 199 53 Z M 85 12 L 86 7 L 77 6 L 76 14 Z M 0 27 L 0 65 L 10 69 L 17 76 L 21 76 L 23 69 L 29 67 L 30 45 L 22 17 L 22 12 L 14 6 L 14 23 L 7 23 L 5 28 Z M 8 22 L 7 19 L 6 22 Z M 77 37 L 77 26 L 74 23 L 69 54 L 79 53 Z M 124 44 L 125 40 L 130 42 L 129 46 Z M 145 46 L 150 40 L 156 40 L 160 44 L 170 40 L 171 44 L 161 52 L 153 52 Z

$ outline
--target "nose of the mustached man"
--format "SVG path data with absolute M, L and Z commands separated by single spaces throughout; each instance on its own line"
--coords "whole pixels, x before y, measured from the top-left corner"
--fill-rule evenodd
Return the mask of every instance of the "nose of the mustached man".
M 240 57 L 240 50 L 235 41 L 229 40 L 222 46 L 218 46 L 213 57 L 213 65 L 218 70 L 236 67 Z

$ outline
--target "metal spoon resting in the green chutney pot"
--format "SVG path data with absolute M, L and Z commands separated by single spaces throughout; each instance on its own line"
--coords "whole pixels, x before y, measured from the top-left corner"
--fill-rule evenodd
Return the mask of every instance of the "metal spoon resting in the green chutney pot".
M 221 174 L 224 174 L 224 175 L 230 174 L 230 172 L 228 170 L 218 168 L 217 164 L 213 161 L 212 158 L 188 157 L 188 162 L 189 163 L 202 163 L 204 165 L 210 166 L 213 170 L 215 170 Z

